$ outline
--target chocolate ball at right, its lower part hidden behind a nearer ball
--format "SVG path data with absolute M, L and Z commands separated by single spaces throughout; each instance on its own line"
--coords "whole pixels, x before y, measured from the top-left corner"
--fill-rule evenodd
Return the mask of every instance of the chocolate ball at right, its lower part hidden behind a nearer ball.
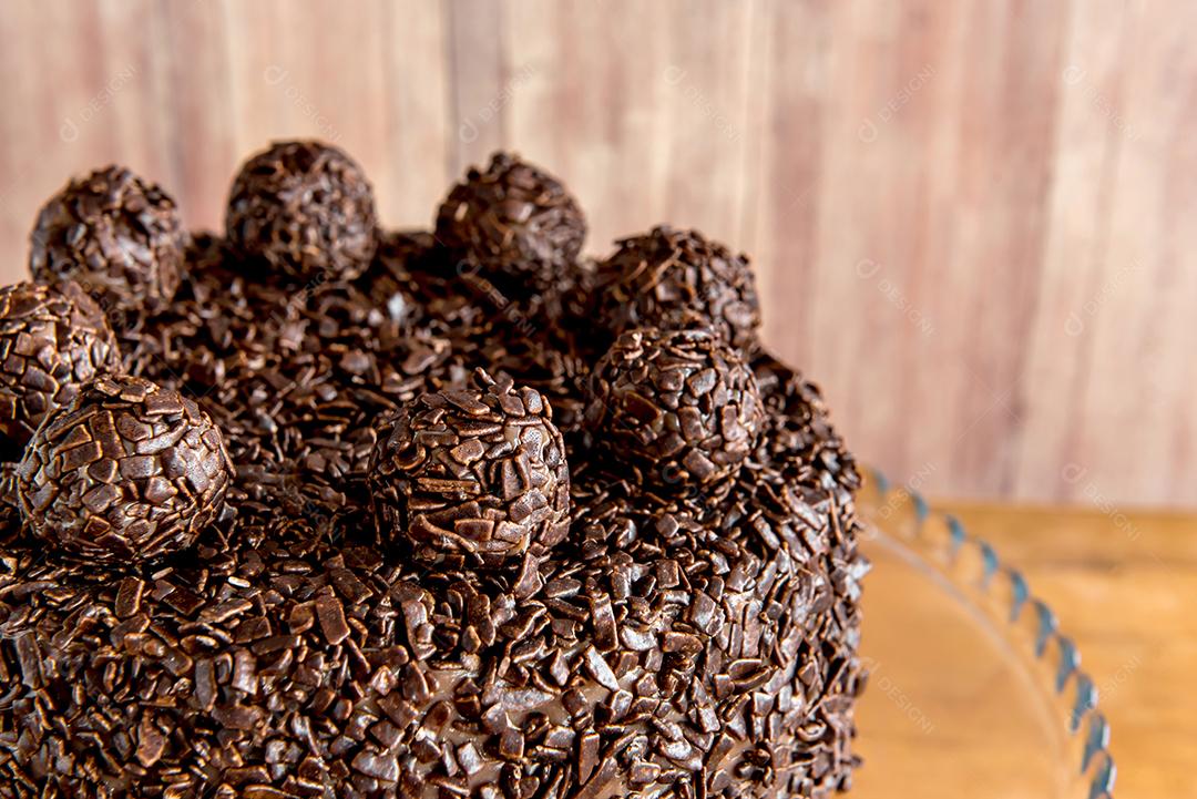
M 742 255 L 697 231 L 655 227 L 619 242 L 598 264 L 600 323 L 619 334 L 637 327 L 710 327 L 747 350 L 757 341 L 760 303 Z

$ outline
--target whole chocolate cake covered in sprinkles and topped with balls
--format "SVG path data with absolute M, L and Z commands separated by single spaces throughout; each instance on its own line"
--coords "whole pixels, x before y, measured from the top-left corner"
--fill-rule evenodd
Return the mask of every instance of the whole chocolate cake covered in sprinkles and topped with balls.
M 508 154 L 383 231 L 282 142 L 176 262 L 97 175 L 0 294 L 0 798 L 849 787 L 858 477 L 743 256 L 587 261 Z

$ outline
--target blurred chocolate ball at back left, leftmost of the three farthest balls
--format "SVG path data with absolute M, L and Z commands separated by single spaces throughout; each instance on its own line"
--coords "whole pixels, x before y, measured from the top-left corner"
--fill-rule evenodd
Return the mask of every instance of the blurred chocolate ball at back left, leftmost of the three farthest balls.
M 78 281 L 105 311 L 160 311 L 178 289 L 187 233 L 157 184 L 122 166 L 71 181 L 42 207 L 29 270 Z

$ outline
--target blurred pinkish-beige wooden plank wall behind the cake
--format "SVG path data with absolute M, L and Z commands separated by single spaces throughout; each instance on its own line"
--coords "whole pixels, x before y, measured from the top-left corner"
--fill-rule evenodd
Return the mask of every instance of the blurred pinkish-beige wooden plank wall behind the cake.
M 850 444 L 938 495 L 1197 506 L 1197 4 L 8 0 L 0 272 L 121 161 L 219 227 L 322 136 L 394 226 L 511 147 L 749 252 Z

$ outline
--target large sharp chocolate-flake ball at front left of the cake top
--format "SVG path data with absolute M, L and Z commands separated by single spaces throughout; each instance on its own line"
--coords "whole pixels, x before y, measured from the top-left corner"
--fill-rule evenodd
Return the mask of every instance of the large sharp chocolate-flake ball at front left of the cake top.
M 135 563 L 189 547 L 223 510 L 231 475 L 220 429 L 193 401 L 105 376 L 37 429 L 17 494 L 55 551 Z

